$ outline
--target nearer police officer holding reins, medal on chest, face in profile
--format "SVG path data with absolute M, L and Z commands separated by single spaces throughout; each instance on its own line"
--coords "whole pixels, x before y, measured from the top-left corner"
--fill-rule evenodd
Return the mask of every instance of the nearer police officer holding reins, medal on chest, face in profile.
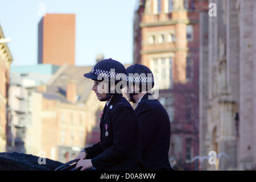
M 100 121 L 100 142 L 80 152 L 76 168 L 142 170 L 138 118 L 121 93 L 126 86 L 125 67 L 116 60 L 105 59 L 84 76 L 94 80 L 92 90 L 106 105 Z

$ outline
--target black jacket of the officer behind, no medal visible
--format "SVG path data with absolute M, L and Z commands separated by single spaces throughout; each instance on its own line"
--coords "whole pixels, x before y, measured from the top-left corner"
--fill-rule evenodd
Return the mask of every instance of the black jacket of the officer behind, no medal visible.
M 166 109 L 150 93 L 145 94 L 135 108 L 141 133 L 144 165 L 154 171 L 172 170 L 168 159 L 170 147 L 170 118 Z

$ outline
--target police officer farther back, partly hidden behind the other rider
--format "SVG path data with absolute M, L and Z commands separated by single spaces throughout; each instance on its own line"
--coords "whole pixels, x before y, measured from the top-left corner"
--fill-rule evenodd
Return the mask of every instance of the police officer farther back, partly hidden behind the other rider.
M 131 65 L 126 72 L 126 95 L 130 102 L 137 104 L 135 113 L 141 130 L 143 163 L 154 171 L 172 170 L 168 160 L 170 119 L 163 105 L 148 92 L 154 87 L 154 76 L 141 64 Z

